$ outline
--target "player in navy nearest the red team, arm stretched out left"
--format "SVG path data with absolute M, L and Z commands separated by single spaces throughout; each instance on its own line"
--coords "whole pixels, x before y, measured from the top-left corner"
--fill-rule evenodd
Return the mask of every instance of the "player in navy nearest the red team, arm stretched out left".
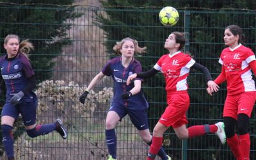
M 111 76 L 115 82 L 115 94 L 106 118 L 106 143 L 108 146 L 108 160 L 116 159 L 116 133 L 115 126 L 125 115 L 129 115 L 132 124 L 138 129 L 143 141 L 148 145 L 152 143 L 152 136 L 148 129 L 147 108 L 148 102 L 141 92 L 141 79 L 134 79 L 134 83 L 126 85 L 127 77 L 133 73 L 141 72 L 140 62 L 134 59 L 134 53 L 145 52 L 146 47 L 139 47 L 138 42 L 132 38 L 124 38 L 118 42 L 113 50 L 121 56 L 113 58 L 102 68 L 89 84 L 79 101 L 85 98 L 95 84 L 104 76 Z M 158 152 L 158 151 L 157 151 Z M 159 147 L 158 155 L 162 159 L 171 159 Z

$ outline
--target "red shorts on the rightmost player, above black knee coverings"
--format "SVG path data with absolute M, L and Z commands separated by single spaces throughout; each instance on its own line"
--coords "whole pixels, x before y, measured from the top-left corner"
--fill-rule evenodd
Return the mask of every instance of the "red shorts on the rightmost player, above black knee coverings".
M 227 95 L 223 116 L 230 116 L 237 120 L 237 115 L 244 113 L 251 116 L 256 100 L 256 92 L 243 92 L 236 95 Z

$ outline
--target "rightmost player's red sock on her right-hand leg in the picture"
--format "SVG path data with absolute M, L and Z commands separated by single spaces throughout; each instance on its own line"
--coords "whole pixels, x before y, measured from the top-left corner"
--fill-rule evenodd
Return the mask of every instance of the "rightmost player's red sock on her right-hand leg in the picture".
M 250 135 L 249 133 L 239 136 L 240 151 L 243 159 L 250 159 Z

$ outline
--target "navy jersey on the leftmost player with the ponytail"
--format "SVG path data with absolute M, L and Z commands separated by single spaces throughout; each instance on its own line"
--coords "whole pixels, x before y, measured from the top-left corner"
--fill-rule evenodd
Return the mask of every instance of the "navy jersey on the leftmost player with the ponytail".
M 23 54 L 19 53 L 15 58 L 0 57 L 1 76 L 6 85 L 6 100 L 10 100 L 13 93 L 18 93 L 28 86 L 28 78 L 35 72 L 31 63 Z M 30 99 L 31 94 L 26 94 L 22 99 Z

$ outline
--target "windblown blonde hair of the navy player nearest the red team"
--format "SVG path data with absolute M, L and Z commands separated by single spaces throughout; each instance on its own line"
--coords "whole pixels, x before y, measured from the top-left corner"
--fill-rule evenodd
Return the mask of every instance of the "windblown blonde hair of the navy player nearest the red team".
M 134 40 L 134 39 L 129 38 L 129 37 L 122 39 L 120 42 L 116 42 L 116 45 L 113 47 L 113 50 L 116 51 L 118 54 L 122 54 L 120 50 L 122 49 L 122 47 L 124 45 L 124 42 L 126 42 L 126 41 L 131 41 L 134 44 L 134 52 L 136 54 L 137 53 L 141 54 L 143 52 L 147 52 L 146 51 L 147 47 L 140 47 L 138 45 L 137 40 Z

